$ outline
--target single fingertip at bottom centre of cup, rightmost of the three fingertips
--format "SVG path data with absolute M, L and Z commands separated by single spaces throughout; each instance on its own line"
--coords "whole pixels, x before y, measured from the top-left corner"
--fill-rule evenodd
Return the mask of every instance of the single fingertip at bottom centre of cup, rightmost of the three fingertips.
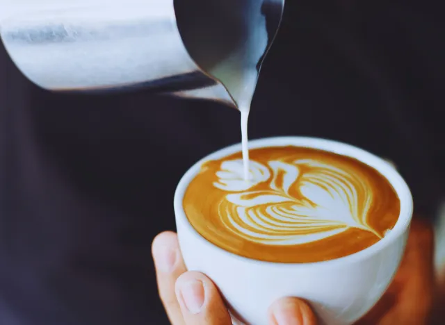
M 269 309 L 270 325 L 316 325 L 316 316 L 305 301 L 284 298 L 273 303 Z

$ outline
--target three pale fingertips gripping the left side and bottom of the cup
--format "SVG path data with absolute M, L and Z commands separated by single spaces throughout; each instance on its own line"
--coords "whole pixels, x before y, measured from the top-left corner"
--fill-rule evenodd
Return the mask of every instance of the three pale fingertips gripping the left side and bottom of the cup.
M 232 325 L 213 282 L 199 272 L 187 272 L 175 233 L 158 235 L 152 253 L 159 296 L 172 325 Z M 277 301 L 269 315 L 270 325 L 316 325 L 311 308 L 296 298 Z

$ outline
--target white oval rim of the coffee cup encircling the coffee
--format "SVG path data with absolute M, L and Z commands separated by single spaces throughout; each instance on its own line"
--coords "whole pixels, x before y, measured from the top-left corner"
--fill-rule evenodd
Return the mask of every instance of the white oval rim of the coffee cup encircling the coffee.
M 280 263 L 280 262 L 270 262 L 264 260 L 255 260 L 254 258 L 248 258 L 245 256 L 237 255 L 236 253 L 232 253 L 226 251 L 225 249 L 218 247 L 216 244 L 209 242 L 206 238 L 204 238 L 200 233 L 198 233 L 195 228 L 188 221 L 186 213 L 184 211 L 183 200 L 184 194 L 188 185 L 195 178 L 197 173 L 200 171 L 200 168 L 203 163 L 209 160 L 217 160 L 220 158 L 224 158 L 225 156 L 229 156 L 232 153 L 236 153 L 241 151 L 241 143 L 232 144 L 228 147 L 220 149 L 218 151 L 214 151 L 210 153 L 208 156 L 200 159 L 195 163 L 192 167 L 188 169 L 188 171 L 182 176 L 181 180 L 177 185 L 177 189 L 175 191 L 174 197 L 174 208 L 175 215 L 177 218 L 177 222 L 180 221 L 182 226 L 187 228 L 187 231 L 190 231 L 195 235 L 198 240 L 200 240 L 203 245 L 210 245 L 212 249 L 216 249 L 220 253 L 228 254 L 232 256 L 232 258 L 236 258 L 238 260 L 242 260 L 245 263 L 256 264 L 256 265 L 280 265 L 280 267 L 334 267 L 335 265 L 344 265 L 344 263 L 357 263 L 360 260 L 364 260 L 369 258 L 370 256 L 375 255 L 376 253 L 382 251 L 386 247 L 397 240 L 403 233 L 407 231 L 410 227 L 410 222 L 412 219 L 413 213 L 413 201 L 412 194 L 410 192 L 410 188 L 407 183 L 403 179 L 403 177 L 398 173 L 396 168 L 388 163 L 386 160 L 375 156 L 373 153 L 369 151 L 365 151 L 364 149 L 360 149 L 359 147 L 355 147 L 351 144 L 346 144 L 343 142 L 338 142 L 335 140 L 327 140 L 323 138 L 311 138 L 311 137 L 300 137 L 300 136 L 282 136 L 282 137 L 272 137 L 272 138 L 260 138 L 256 140 L 249 141 L 249 149 L 257 149 L 264 147 L 307 147 L 312 149 L 319 149 L 331 153 L 337 153 L 343 156 L 348 156 L 350 158 L 355 158 L 366 165 L 373 167 L 377 170 L 382 176 L 384 176 L 387 181 L 391 184 L 391 186 L 396 191 L 398 199 L 401 203 L 401 211 L 398 215 L 398 220 L 387 235 L 384 238 L 376 242 L 375 244 L 363 249 L 362 251 L 358 251 L 357 253 L 353 253 L 347 256 L 343 256 L 341 258 L 335 258 L 332 260 L 323 260 L 318 262 L 310 262 L 310 263 Z

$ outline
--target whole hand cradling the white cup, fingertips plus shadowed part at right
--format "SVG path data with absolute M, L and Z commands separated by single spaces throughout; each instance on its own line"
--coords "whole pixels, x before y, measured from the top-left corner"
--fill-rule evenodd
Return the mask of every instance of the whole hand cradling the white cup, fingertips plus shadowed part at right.
M 186 272 L 175 233 L 153 242 L 159 295 L 172 325 L 231 325 L 218 289 L 207 276 Z M 425 325 L 434 290 L 433 232 L 414 220 L 405 257 L 396 278 L 377 305 L 357 325 Z M 284 298 L 270 307 L 271 325 L 316 325 L 307 303 Z

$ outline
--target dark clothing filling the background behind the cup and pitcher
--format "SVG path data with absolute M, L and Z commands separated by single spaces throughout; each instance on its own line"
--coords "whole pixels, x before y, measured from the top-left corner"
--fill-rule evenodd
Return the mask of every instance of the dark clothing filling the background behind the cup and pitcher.
M 432 215 L 445 166 L 439 5 L 287 2 L 250 137 L 314 135 L 394 160 Z M 150 244 L 175 229 L 181 174 L 239 140 L 236 110 L 45 92 L 1 48 L 0 324 L 167 324 Z

